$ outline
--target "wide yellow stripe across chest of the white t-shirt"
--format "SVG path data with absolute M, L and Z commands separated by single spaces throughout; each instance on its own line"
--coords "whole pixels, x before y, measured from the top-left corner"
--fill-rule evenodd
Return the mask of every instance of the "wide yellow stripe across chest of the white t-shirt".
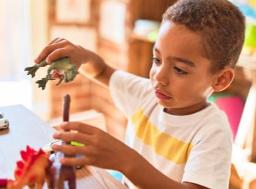
M 156 154 L 176 164 L 186 163 L 193 147 L 192 144 L 161 132 L 149 122 L 149 118 L 147 118 L 142 109 L 139 109 L 131 117 L 131 122 L 134 125 L 135 135 L 144 144 L 151 146 Z

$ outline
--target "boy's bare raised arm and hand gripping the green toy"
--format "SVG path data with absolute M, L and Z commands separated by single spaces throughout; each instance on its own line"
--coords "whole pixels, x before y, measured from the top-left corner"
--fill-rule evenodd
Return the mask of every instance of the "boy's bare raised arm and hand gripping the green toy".
M 73 43 L 63 38 L 55 38 L 52 40 L 39 56 L 35 59 L 35 63 L 46 59 L 48 64 L 54 60 L 69 57 L 72 64 L 75 64 L 76 69 L 84 76 L 102 84 L 109 85 L 109 79 L 115 69 L 108 66 L 106 62 L 94 52 L 84 49 L 80 45 Z

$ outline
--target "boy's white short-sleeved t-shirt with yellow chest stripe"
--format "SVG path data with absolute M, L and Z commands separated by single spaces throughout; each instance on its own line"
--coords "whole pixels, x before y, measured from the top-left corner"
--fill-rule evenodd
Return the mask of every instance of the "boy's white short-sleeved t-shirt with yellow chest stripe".
M 149 79 L 124 71 L 114 72 L 109 88 L 128 118 L 128 146 L 175 181 L 228 188 L 232 134 L 226 115 L 216 105 L 191 115 L 168 114 L 157 104 Z

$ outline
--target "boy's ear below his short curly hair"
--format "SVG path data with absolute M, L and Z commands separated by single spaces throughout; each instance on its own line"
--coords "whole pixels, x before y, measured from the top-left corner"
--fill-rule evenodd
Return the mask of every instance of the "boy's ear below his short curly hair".
M 231 67 L 226 67 L 221 71 L 216 73 L 214 77 L 214 83 L 212 84 L 212 88 L 216 92 L 223 91 L 228 88 L 235 77 L 235 71 Z

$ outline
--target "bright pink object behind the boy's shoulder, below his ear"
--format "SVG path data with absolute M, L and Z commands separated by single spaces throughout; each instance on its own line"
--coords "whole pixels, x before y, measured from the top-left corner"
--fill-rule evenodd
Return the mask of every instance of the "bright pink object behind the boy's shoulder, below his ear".
M 234 140 L 243 113 L 243 100 L 239 96 L 225 96 L 217 98 L 216 105 L 228 116 Z

